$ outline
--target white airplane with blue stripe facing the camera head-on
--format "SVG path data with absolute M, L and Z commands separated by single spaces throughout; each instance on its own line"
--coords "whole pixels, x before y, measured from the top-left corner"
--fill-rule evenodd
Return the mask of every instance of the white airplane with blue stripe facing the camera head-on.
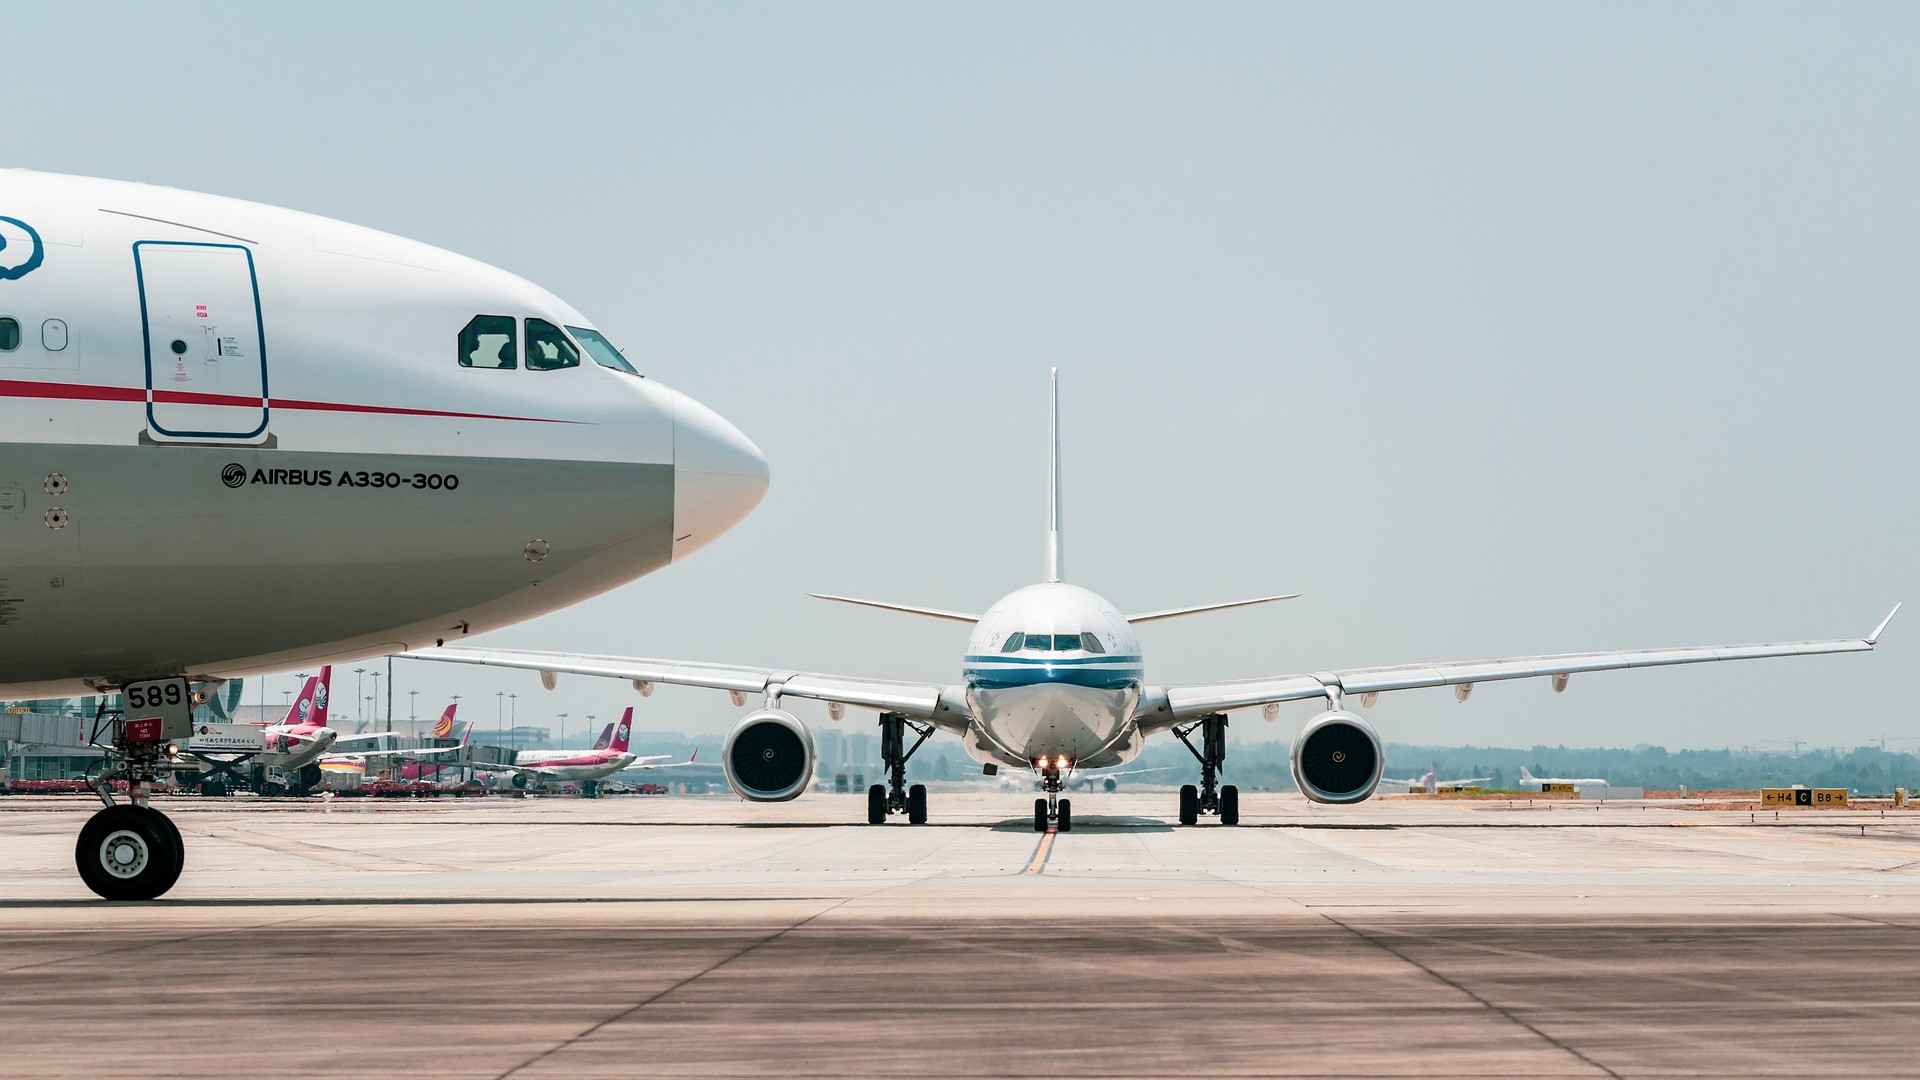
M 1002 767 L 1033 769 L 1046 792 L 1046 798 L 1033 803 L 1033 828 L 1044 832 L 1052 826 L 1068 832 L 1071 803 L 1060 799 L 1064 776 L 1075 769 L 1125 765 L 1140 753 L 1148 738 L 1164 732 L 1179 738 L 1200 763 L 1200 784 L 1181 788 L 1181 824 L 1194 824 L 1202 813 L 1217 815 L 1221 824 L 1236 824 L 1240 792 L 1236 786 L 1219 784 L 1219 771 L 1227 759 L 1227 717 L 1235 711 L 1261 709 L 1267 721 L 1275 721 L 1284 701 L 1325 701 L 1325 711 L 1309 719 L 1292 744 L 1294 782 L 1313 801 L 1356 803 L 1379 786 L 1384 755 L 1373 724 L 1346 709 L 1348 698 L 1357 696 L 1365 707 L 1384 692 L 1452 686 L 1453 696 L 1465 701 L 1476 684 L 1509 678 L 1546 676 L 1553 690 L 1561 692 L 1571 675 L 1588 671 L 1868 651 L 1893 619 L 1889 613 L 1866 638 L 1826 642 L 1528 655 L 1156 684 L 1144 676 L 1135 632 L 1139 625 L 1292 600 L 1292 596 L 1121 615 L 1100 596 L 1068 584 L 1060 513 L 1058 369 L 1052 377 L 1050 413 L 1046 577 L 1041 584 L 1000 598 L 985 615 L 814 594 L 822 600 L 970 623 L 973 628 L 956 682 L 899 682 L 703 661 L 459 646 L 415 650 L 405 655 L 532 669 L 541 673 L 541 684 L 549 690 L 561 673 L 570 673 L 632 680 L 643 696 L 655 684 L 726 690 L 735 707 L 745 705 L 749 694 L 756 694 L 762 698 L 760 707 L 733 726 L 720 753 L 733 792 L 753 801 L 793 799 L 810 786 L 814 774 L 812 734 L 799 717 L 781 707 L 785 700 L 824 701 L 833 721 L 839 721 L 849 705 L 874 709 L 879 713 L 887 784 L 874 784 L 868 790 L 868 822 L 881 824 L 897 813 L 904 813 L 912 824 L 925 822 L 927 792 L 924 784 L 906 786 L 906 761 L 935 732 L 947 732 L 962 740 L 966 753 L 979 761 L 987 774 Z M 918 736 L 912 744 L 906 742 L 908 732 Z M 1200 746 L 1194 746 L 1190 738 L 1194 734 Z

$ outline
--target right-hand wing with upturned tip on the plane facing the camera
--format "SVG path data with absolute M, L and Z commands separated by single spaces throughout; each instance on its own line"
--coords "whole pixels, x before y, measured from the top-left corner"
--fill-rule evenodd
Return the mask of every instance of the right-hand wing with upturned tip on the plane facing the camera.
M 1588 671 L 1622 671 L 1632 667 L 1670 667 L 1680 663 L 1713 663 L 1722 659 L 1764 659 L 1786 655 L 1826 655 L 1870 651 L 1893 621 L 1899 605 L 1864 638 L 1836 638 L 1826 642 L 1780 642 L 1757 646 L 1693 646 L 1678 650 L 1632 650 L 1609 653 L 1555 653 L 1501 659 L 1469 659 L 1450 663 L 1405 663 L 1394 667 L 1350 667 L 1344 671 L 1315 671 L 1269 678 L 1231 682 L 1188 682 L 1162 686 L 1142 700 L 1142 726 L 1164 730 L 1179 721 L 1250 709 L 1277 701 L 1306 701 L 1334 694 L 1384 694 L 1388 690 L 1417 690 L 1421 686 L 1455 686 L 1465 692 L 1476 682 L 1509 678 L 1555 676 L 1555 690 L 1565 678 Z

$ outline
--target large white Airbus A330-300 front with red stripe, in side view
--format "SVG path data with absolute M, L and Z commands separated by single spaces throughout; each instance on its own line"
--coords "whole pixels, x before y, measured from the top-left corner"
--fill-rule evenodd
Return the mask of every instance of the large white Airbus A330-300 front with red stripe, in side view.
M 768 484 L 733 425 L 507 271 L 23 169 L 0 169 L 0 700 L 125 703 L 75 846 L 109 899 L 179 878 L 148 794 L 194 696 L 566 607 Z

